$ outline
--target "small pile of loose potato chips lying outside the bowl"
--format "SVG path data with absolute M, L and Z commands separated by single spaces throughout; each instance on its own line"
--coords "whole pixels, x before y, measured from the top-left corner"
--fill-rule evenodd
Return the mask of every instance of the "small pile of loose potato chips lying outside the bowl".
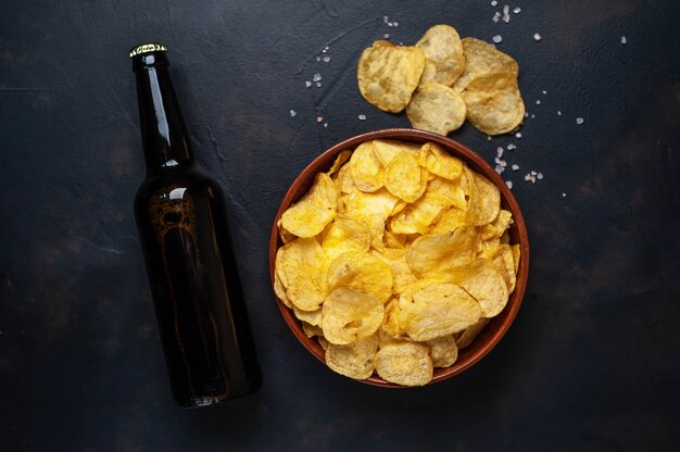
M 414 128 L 448 135 L 467 118 L 488 135 L 512 131 L 525 117 L 512 56 L 455 28 L 435 25 L 415 46 L 375 41 L 358 61 L 368 102 L 406 116 Z

